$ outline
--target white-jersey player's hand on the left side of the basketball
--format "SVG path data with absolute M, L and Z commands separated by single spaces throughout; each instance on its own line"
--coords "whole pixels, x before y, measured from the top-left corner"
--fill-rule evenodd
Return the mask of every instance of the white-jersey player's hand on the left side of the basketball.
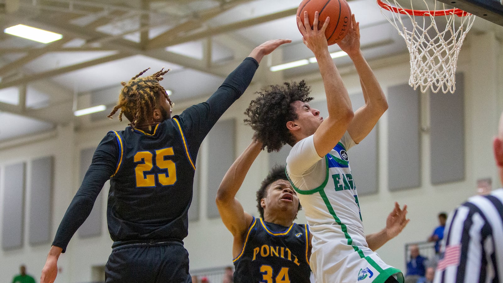
M 330 22 L 330 17 L 326 17 L 323 26 L 318 30 L 318 17 L 319 13 L 316 11 L 314 13 L 313 27 L 309 24 L 309 16 L 307 11 L 304 11 L 304 23 L 302 23 L 300 17 L 297 17 L 297 25 L 299 26 L 300 33 L 302 34 L 302 41 L 311 49 L 314 54 L 319 51 L 325 51 L 328 48 L 328 43 L 325 37 L 325 30 Z

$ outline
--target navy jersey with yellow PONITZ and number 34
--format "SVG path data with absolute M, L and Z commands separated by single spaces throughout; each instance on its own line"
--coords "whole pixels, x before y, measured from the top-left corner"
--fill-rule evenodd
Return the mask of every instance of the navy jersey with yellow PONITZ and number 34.
M 310 282 L 307 225 L 284 227 L 254 218 L 233 260 L 234 283 Z

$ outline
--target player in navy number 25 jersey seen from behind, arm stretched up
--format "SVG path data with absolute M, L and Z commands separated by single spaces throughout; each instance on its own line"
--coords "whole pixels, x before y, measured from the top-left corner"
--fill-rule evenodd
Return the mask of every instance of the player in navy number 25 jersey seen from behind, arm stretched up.
M 56 232 L 41 282 L 53 282 L 57 259 L 89 216 L 110 179 L 107 222 L 114 241 L 106 282 L 190 282 L 182 240 L 188 233 L 196 156 L 218 118 L 246 90 L 261 59 L 290 40 L 256 47 L 206 101 L 171 117 L 171 100 L 159 85 L 160 70 L 121 83 L 119 104 L 130 121 L 110 131 L 98 145 L 84 180 Z

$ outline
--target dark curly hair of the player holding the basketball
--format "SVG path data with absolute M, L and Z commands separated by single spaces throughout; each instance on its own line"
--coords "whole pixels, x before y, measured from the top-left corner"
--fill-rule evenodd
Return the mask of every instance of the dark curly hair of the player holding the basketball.
M 249 117 L 244 122 L 255 130 L 256 138 L 263 143 L 262 149 L 267 147 L 267 152 L 279 151 L 285 144 L 295 144 L 292 133 L 286 127 L 288 121 L 298 118 L 291 104 L 297 100 L 311 101 L 310 92 L 311 88 L 304 80 L 270 86 L 257 92 L 260 96 L 252 100 L 244 111 Z

